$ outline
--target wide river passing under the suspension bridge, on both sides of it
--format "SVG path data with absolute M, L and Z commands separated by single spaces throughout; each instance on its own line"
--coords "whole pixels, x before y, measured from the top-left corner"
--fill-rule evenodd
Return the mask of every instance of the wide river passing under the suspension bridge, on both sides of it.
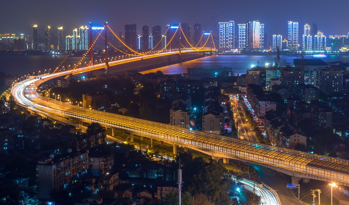
M 47 56 L 47 55 L 37 55 L 37 56 L 21 56 L 21 55 L 0 55 L 0 72 L 4 72 L 9 75 L 27 75 L 32 74 L 33 72 L 41 71 L 40 74 L 51 69 L 51 71 L 56 68 L 66 56 Z M 293 64 L 293 59 L 297 57 L 294 56 L 280 56 L 281 64 L 285 61 L 286 63 Z M 300 57 L 298 57 L 300 58 Z M 306 59 L 314 59 L 312 56 L 305 56 Z M 74 66 L 74 63 L 77 63 L 81 58 L 80 57 L 69 57 L 65 62 L 64 66 L 71 67 Z M 174 64 L 171 66 L 165 66 L 157 69 L 152 69 L 142 72 L 150 73 L 156 71 L 162 71 L 164 74 L 179 74 L 186 73 L 186 68 L 188 67 L 230 67 L 233 68 L 234 74 L 243 74 L 246 73 L 246 70 L 251 68 L 252 65 L 265 66 L 266 63 L 269 63 L 269 66 L 272 65 L 275 56 L 272 55 L 216 55 L 208 56 L 204 58 L 195 59 L 192 61 L 187 61 L 179 64 Z M 325 62 L 333 61 L 349 61 L 349 56 L 337 56 L 331 55 L 326 58 L 321 58 Z M 88 59 L 86 59 L 88 60 Z

